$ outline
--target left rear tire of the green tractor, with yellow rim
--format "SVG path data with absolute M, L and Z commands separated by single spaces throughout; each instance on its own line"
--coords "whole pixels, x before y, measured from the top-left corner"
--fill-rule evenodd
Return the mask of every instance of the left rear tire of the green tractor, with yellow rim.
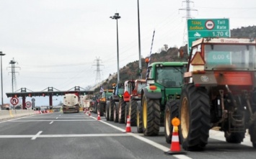
M 156 136 L 160 129 L 160 101 L 159 99 L 142 99 L 142 125 L 145 136 Z

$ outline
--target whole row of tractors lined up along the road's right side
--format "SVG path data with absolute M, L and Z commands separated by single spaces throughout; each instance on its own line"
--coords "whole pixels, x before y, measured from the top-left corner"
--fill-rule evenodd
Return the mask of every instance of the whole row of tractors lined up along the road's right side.
M 146 80 L 125 81 L 106 89 L 96 113 L 108 121 L 126 123 L 146 136 L 172 140 L 171 120 L 180 119 L 180 143 L 185 150 L 203 150 L 209 130 L 219 127 L 226 142 L 240 143 L 246 130 L 256 147 L 256 41 L 202 38 L 193 42 L 187 62 L 156 62 Z

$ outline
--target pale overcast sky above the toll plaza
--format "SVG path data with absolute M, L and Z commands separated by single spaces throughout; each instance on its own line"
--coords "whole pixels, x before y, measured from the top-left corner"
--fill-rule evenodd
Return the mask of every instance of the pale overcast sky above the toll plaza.
M 183 45 L 184 1 L 139 0 L 142 57 L 159 52 L 165 44 Z M 230 29 L 256 24 L 254 0 L 191 2 L 195 19 L 229 18 Z M 97 60 L 101 80 L 116 73 L 117 23 L 110 17 L 117 12 L 121 17 L 119 67 L 138 60 L 137 11 L 137 0 L 0 0 L 0 50 L 6 54 L 2 56 L 4 103 L 10 103 L 6 92 L 12 92 L 11 60 L 16 61 L 14 91 L 43 91 L 48 87 L 66 91 L 74 86 L 93 86 Z M 49 103 L 47 97 L 35 99 L 39 106 Z M 53 99 L 56 105 L 62 97 Z

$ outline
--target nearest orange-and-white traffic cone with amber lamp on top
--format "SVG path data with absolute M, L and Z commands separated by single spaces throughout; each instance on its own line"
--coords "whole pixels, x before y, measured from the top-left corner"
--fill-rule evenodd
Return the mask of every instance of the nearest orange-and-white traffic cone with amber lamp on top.
M 177 155 L 177 154 L 185 154 L 185 152 L 180 150 L 180 140 L 179 140 L 179 133 L 178 133 L 178 125 L 180 124 L 180 119 L 175 117 L 172 119 L 173 125 L 173 132 L 172 132 L 172 143 L 170 150 L 164 152 L 166 155 Z

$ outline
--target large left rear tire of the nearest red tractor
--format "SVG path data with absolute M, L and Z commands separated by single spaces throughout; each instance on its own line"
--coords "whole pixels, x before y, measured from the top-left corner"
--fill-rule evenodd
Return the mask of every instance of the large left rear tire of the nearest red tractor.
M 179 108 L 180 140 L 184 150 L 203 150 L 211 128 L 210 102 L 206 88 L 187 84 Z

